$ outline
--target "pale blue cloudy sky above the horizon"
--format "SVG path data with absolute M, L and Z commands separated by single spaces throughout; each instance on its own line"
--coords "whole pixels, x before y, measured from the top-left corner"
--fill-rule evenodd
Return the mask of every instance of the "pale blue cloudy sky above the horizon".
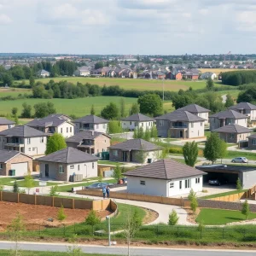
M 0 52 L 256 53 L 256 0 L 0 0 Z

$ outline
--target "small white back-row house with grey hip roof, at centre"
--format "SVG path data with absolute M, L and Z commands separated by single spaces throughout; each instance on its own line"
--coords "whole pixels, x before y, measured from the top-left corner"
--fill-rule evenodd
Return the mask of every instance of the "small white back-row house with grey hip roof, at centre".
M 135 129 L 143 128 L 143 131 L 150 130 L 154 125 L 154 119 L 143 113 L 134 113 L 131 116 L 121 119 L 122 128 L 124 130 L 133 131 Z

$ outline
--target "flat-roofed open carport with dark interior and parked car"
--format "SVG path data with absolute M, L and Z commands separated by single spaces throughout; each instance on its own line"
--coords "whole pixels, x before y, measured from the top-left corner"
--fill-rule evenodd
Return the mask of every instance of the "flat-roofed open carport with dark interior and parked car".
M 243 189 L 251 188 L 256 184 L 256 166 L 209 165 L 195 168 L 207 172 L 207 175 L 203 176 L 204 183 L 208 183 L 209 179 L 220 179 L 236 188 L 236 181 L 239 177 Z

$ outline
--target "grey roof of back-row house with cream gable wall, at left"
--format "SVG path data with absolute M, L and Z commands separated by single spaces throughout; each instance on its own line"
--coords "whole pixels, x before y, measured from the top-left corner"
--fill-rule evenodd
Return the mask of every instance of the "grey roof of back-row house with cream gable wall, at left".
M 50 114 L 49 116 L 44 117 L 43 119 L 33 119 L 31 122 L 27 123 L 27 126 L 32 127 L 57 127 L 65 122 L 67 120 L 70 120 L 70 117 L 68 117 L 65 114 L 62 113 L 54 113 Z

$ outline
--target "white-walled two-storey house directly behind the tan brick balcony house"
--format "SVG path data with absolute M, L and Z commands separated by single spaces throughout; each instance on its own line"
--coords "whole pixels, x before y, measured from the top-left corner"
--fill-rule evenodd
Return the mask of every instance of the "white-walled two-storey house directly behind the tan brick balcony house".
M 86 115 L 80 119 L 73 121 L 75 126 L 75 133 L 83 130 L 93 130 L 107 133 L 108 120 L 97 117 L 96 115 Z

